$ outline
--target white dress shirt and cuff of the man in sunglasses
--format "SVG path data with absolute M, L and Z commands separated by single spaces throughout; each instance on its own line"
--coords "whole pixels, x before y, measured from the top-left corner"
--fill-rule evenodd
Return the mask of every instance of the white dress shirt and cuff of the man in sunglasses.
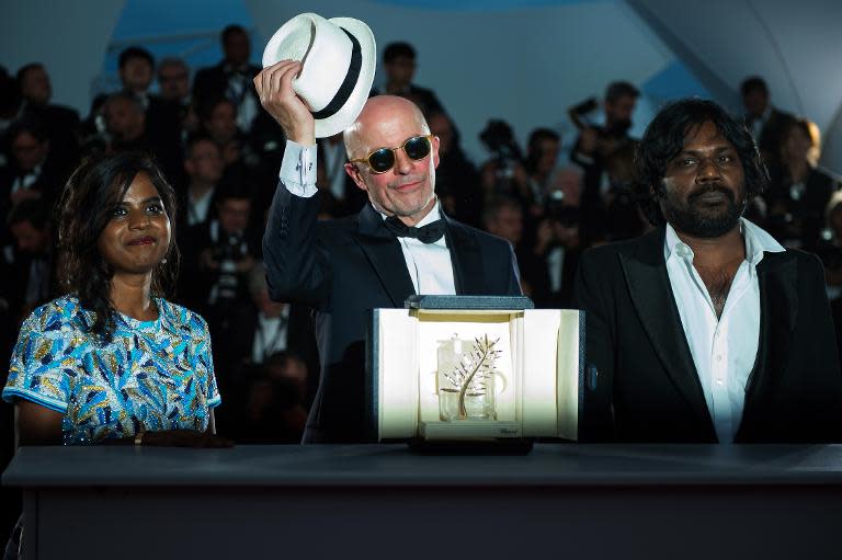
M 280 178 L 292 194 L 310 197 L 317 193 L 316 153 L 316 146 L 301 146 L 292 140 L 286 141 Z M 378 213 L 386 219 L 385 214 L 379 210 Z M 441 218 L 441 210 L 436 201 L 430 214 L 424 216 L 416 227 L 426 226 L 439 218 Z M 398 238 L 398 240 L 416 294 L 456 294 L 451 251 L 447 249 L 444 237 L 434 243 L 424 243 L 414 238 Z

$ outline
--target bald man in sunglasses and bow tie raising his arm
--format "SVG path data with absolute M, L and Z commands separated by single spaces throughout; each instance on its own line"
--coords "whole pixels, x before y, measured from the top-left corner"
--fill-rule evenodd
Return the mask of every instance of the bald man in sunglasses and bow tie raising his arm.
M 507 241 L 443 214 L 434 192 L 439 138 L 402 98 L 369 99 L 343 135 L 345 172 L 369 204 L 317 221 L 314 119 L 292 88 L 300 69 L 282 60 L 254 79 L 287 138 L 263 237 L 269 289 L 315 310 L 321 377 L 304 442 L 366 442 L 368 310 L 403 307 L 413 294 L 520 295 L 517 263 Z

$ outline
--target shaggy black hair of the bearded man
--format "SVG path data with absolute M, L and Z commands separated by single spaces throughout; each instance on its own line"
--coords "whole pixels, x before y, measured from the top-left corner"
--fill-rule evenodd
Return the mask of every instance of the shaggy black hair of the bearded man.
M 638 176 L 634 190 L 644 214 L 652 225 L 665 224 L 659 198 L 664 194 L 667 164 L 681 152 L 686 135 L 707 122 L 713 123 L 737 150 L 746 176 L 747 199 L 753 198 L 766 187 L 769 171 L 746 125 L 713 101 L 679 100 L 663 107 L 649 123 L 635 155 Z

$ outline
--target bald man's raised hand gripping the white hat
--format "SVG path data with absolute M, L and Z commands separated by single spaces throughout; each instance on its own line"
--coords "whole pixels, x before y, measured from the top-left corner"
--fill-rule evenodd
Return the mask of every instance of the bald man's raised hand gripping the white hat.
M 316 125 L 307 105 L 293 90 L 293 78 L 301 71 L 301 62 L 281 60 L 254 77 L 254 88 L 263 105 L 277 121 L 287 139 L 303 146 L 316 144 Z

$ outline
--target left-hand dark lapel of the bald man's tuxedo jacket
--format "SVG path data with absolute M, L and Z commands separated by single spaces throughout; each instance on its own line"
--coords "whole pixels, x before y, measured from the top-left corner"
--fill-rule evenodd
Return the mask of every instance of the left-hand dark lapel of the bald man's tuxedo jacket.
M 356 243 L 365 253 L 375 274 L 391 299 L 394 307 L 403 307 L 407 297 L 416 293 L 407 271 L 403 251 L 394 233 L 383 225 L 383 217 L 371 204 L 357 214 Z

